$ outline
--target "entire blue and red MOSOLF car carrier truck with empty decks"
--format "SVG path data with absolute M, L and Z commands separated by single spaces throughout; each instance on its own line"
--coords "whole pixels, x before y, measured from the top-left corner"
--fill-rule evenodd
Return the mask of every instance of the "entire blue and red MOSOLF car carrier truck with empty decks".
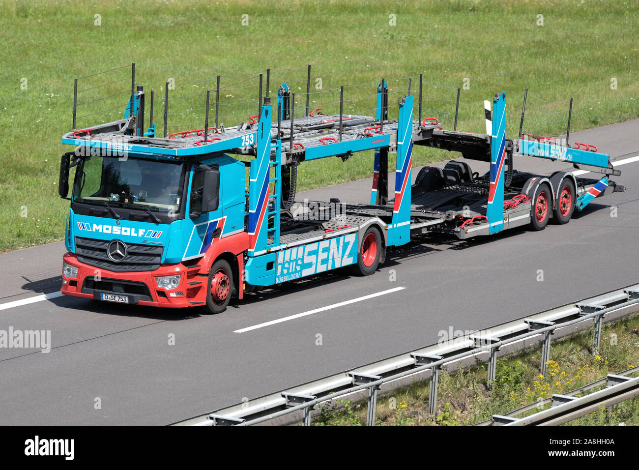
M 527 224 L 542 230 L 550 219 L 567 223 L 594 198 L 623 191 L 609 180 L 619 170 L 594 146 L 506 139 L 505 93 L 487 111 L 486 134 L 445 130 L 436 118 L 414 120 L 410 87 L 398 101 L 397 120 L 389 120 L 385 81 L 376 93 L 375 116 L 321 114 L 320 108 L 295 118 L 295 99 L 284 84 L 275 106 L 266 93 L 249 123 L 209 127 L 207 102 L 202 129 L 156 137 L 153 122 L 144 132 L 139 87 L 125 118 L 63 136 L 75 150 L 61 159 L 61 197 L 67 198 L 70 168 L 76 170 L 61 292 L 219 313 L 231 297 L 265 286 L 347 266 L 372 274 L 387 248 L 418 234 L 467 239 Z M 463 158 L 443 169 L 424 167 L 411 184 L 413 145 Z M 332 200 L 312 216 L 291 210 L 297 166 L 367 151 L 374 152 L 369 204 Z M 397 153 L 390 199 L 389 152 Z M 603 177 L 519 172 L 513 161 L 521 157 L 569 162 Z M 467 160 L 489 162 L 490 171 L 473 173 Z

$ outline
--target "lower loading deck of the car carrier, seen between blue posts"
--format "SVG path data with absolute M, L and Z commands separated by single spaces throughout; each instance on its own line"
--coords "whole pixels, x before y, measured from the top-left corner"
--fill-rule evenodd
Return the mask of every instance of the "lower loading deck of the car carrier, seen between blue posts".
M 514 171 L 511 184 L 504 191 L 503 230 L 523 226 L 531 221 L 532 201 L 522 196 L 523 186 L 534 173 Z M 419 177 L 418 177 L 419 181 Z M 576 196 L 581 196 L 599 180 L 576 178 Z M 412 235 L 446 233 L 459 239 L 488 235 L 486 223 L 489 175 L 475 176 L 470 181 L 429 189 L 423 183 L 412 185 L 410 228 Z M 610 182 L 610 189 L 615 184 Z M 602 192 L 601 195 L 604 193 Z M 386 205 L 344 204 L 339 200 L 295 203 L 290 211 L 282 211 L 280 248 L 310 243 L 352 231 L 359 231 L 373 219 L 389 225 L 393 200 Z M 272 224 L 272 220 L 270 221 Z M 272 238 L 269 244 L 272 244 Z

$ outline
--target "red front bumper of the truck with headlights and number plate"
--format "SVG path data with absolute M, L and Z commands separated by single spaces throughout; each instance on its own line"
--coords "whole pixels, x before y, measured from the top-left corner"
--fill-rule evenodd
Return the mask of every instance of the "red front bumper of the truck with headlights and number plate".
M 189 268 L 182 263 L 160 266 L 155 271 L 113 272 L 81 263 L 73 253 L 66 253 L 63 262 L 78 268 L 75 278 L 62 275 L 60 292 L 65 295 L 84 299 L 100 299 L 101 293 L 127 295 L 129 303 L 167 308 L 206 304 L 208 277 L 197 276 L 197 268 Z M 158 288 L 155 278 L 172 274 L 182 275 L 180 284 L 171 290 Z M 181 292 L 183 296 L 171 297 L 171 292 Z

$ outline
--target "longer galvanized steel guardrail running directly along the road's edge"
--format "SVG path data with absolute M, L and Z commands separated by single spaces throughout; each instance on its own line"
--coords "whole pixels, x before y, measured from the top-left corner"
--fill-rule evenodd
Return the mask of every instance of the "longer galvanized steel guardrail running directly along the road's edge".
M 488 352 L 487 386 L 490 389 L 495 379 L 497 352 L 500 348 L 505 345 L 530 340 L 536 336 L 543 336 L 541 338 L 543 352 L 540 369 L 541 373 L 546 375 L 546 363 L 550 360 L 551 334 L 557 329 L 593 320 L 592 353 L 597 354 L 599 341 L 601 340 L 601 322 L 604 315 L 636 304 L 639 304 L 639 284 L 589 297 L 573 304 L 546 310 L 488 329 L 475 331 L 458 338 L 442 341 L 419 350 L 367 364 L 355 370 L 338 373 L 324 379 L 314 380 L 294 388 L 180 421 L 174 423 L 174 425 L 250 426 L 296 411 L 303 411 L 304 418 L 302 423 L 305 426 L 309 426 L 311 423 L 311 411 L 318 403 L 367 389 L 367 425 L 372 426 L 374 425 L 375 407 L 380 386 L 392 380 L 402 379 L 427 370 L 431 370 L 432 373 L 429 412 L 432 416 L 435 416 L 438 376 L 444 364 Z M 628 386 L 627 384 L 625 385 Z M 574 403 L 577 404 L 575 405 Z M 579 403 L 582 402 L 571 400 L 571 403 L 567 404 L 580 406 Z M 523 410 L 519 412 L 523 412 Z M 546 413 L 546 411 L 543 413 Z M 516 412 L 512 412 L 512 414 L 516 414 Z M 535 414 L 534 416 L 537 415 Z M 525 420 L 528 419 L 525 418 Z M 520 421 L 516 422 L 520 423 Z M 524 422 L 527 423 L 528 421 L 521 421 L 521 423 Z

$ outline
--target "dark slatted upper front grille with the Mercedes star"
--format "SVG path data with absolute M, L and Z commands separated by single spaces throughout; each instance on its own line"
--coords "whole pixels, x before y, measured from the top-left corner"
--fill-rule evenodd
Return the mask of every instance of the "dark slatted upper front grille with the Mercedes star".
M 127 243 L 127 256 L 116 263 L 107 255 L 110 242 L 111 240 L 75 237 L 78 261 L 114 272 L 153 271 L 160 267 L 164 247 Z

